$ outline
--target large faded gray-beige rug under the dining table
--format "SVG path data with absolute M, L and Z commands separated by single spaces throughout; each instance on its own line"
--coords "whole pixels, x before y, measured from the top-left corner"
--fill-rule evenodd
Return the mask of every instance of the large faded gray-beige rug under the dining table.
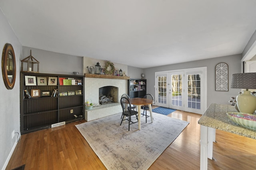
M 141 117 L 130 125 L 121 122 L 121 113 L 76 125 L 108 170 L 146 170 L 178 137 L 189 122 L 152 113 L 146 123 Z

